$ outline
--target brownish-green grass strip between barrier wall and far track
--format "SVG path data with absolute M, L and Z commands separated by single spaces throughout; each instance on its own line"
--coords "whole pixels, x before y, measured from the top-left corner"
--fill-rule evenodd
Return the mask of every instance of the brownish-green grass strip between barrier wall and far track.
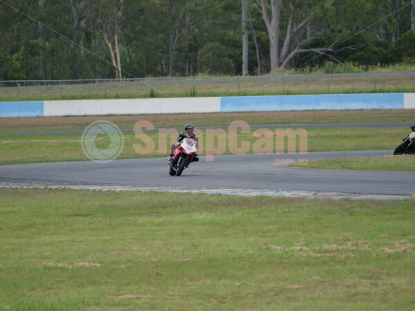
M 244 121 L 250 126 L 275 124 L 347 124 L 413 122 L 415 109 L 358 111 L 269 111 L 243 113 L 177 113 L 169 115 L 101 115 L 73 117 L 10 117 L 0 122 L 0 133 L 19 131 L 84 130 L 91 122 L 108 120 L 121 129 L 133 129 L 140 120 L 155 128 L 228 126 L 232 121 Z

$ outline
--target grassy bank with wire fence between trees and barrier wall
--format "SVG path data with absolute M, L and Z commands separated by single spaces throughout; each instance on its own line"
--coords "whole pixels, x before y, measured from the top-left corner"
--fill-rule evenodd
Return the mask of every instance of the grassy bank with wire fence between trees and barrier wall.
M 0 102 L 404 92 L 415 92 L 415 73 L 0 82 Z

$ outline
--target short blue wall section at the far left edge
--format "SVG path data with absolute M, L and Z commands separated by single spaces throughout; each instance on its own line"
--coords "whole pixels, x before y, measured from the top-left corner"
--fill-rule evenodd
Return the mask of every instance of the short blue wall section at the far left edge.
M 0 117 L 42 117 L 44 102 L 0 102 Z

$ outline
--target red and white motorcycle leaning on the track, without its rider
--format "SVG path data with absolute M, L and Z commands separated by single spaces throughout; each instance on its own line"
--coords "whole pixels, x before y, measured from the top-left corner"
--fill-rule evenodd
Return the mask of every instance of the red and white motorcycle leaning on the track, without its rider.
M 183 170 L 189 167 L 196 152 L 196 141 L 192 138 L 185 138 L 173 153 L 172 160 L 169 162 L 169 174 L 181 176 Z

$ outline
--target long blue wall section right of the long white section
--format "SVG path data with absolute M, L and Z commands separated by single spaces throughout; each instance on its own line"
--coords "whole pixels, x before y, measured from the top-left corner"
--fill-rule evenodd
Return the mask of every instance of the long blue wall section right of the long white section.
M 221 97 L 221 112 L 403 108 L 403 93 Z

